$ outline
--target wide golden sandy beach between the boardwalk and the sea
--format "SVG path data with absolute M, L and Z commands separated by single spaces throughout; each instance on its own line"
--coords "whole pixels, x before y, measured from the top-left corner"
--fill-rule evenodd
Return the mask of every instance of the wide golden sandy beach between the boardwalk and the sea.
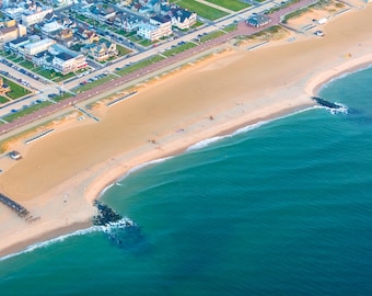
M 0 168 L 8 166 L 0 192 L 40 219 L 27 224 L 0 205 L 0 257 L 89 227 L 92 202 L 137 166 L 314 105 L 324 82 L 372 62 L 371 15 L 371 4 L 360 2 L 318 26 L 324 37 L 309 32 L 256 50 L 229 46 L 153 79 L 129 100 L 92 110 L 98 123 L 72 116 L 43 139 L 10 145 L 23 159 L 0 159 Z

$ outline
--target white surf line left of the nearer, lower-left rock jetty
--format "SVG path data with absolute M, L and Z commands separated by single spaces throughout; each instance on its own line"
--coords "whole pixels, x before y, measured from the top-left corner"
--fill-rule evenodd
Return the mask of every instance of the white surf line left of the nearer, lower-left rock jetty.
M 57 242 L 65 241 L 66 239 L 71 238 L 71 237 L 84 236 L 84 235 L 88 235 L 88 234 L 98 232 L 98 231 L 103 231 L 103 230 L 104 230 L 104 228 L 102 228 L 102 226 L 92 226 L 92 227 L 89 227 L 89 228 L 85 228 L 85 229 L 80 229 L 80 230 L 73 231 L 73 232 L 68 234 L 68 235 L 63 235 L 63 236 L 53 238 L 53 239 L 49 239 L 49 240 L 46 240 L 46 241 L 36 242 L 34 244 L 28 246 L 26 249 L 24 249 L 21 252 L 11 253 L 11 254 L 1 257 L 0 261 L 7 260 L 7 259 L 10 259 L 10 258 L 13 258 L 13 257 L 18 257 L 18 255 L 21 255 L 21 254 L 30 253 L 30 252 L 33 252 L 37 249 L 49 247 L 49 246 L 55 244 Z

